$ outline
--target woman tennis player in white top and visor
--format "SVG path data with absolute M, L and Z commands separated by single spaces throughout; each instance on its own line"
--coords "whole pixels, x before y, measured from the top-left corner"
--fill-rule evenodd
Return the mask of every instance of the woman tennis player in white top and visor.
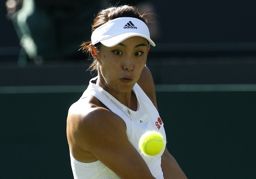
M 150 45 L 155 46 L 146 22 L 135 7 L 110 7 L 95 18 L 91 42 L 82 44 L 91 53 L 90 69 L 98 76 L 67 117 L 75 179 L 186 178 L 166 148 L 149 157 L 138 147 L 146 131 L 165 137 L 146 67 Z

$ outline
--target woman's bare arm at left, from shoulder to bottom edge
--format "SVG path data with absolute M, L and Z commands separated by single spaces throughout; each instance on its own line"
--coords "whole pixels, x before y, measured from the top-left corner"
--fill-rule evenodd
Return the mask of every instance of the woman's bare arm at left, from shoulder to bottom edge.
M 128 140 L 126 125 L 119 116 L 99 107 L 79 116 L 70 114 L 71 121 L 79 121 L 75 132 L 69 132 L 76 139 L 77 147 L 91 153 L 121 178 L 153 177 L 146 162 Z

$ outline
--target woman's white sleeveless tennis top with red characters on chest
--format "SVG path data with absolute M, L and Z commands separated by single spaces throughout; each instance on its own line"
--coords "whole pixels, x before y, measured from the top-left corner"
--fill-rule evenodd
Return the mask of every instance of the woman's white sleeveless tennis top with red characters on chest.
M 156 179 L 163 179 L 163 172 L 161 169 L 161 155 L 164 149 L 156 156 L 145 156 L 139 149 L 139 139 L 146 131 L 158 131 L 164 136 L 166 141 L 164 124 L 161 121 L 159 113 L 154 104 L 147 97 L 144 91 L 136 83 L 133 91 L 138 101 L 137 111 L 128 109 L 121 102 L 115 99 L 110 93 L 103 88 L 94 84 L 91 79 L 88 88 L 84 91 L 79 100 L 83 100 L 86 96 L 95 96 L 113 113 L 120 116 L 127 126 L 127 136 L 132 145 L 138 150 L 143 159 L 146 161 L 152 175 Z M 130 112 L 130 114 L 128 113 Z M 119 179 L 119 177 L 107 168 L 102 162 L 95 161 L 91 163 L 82 163 L 77 161 L 70 153 L 71 167 L 74 179 Z

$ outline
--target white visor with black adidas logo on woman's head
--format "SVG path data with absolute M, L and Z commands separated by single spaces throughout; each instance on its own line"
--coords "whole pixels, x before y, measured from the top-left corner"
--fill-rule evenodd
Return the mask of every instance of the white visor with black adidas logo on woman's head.
M 96 28 L 91 34 L 91 44 L 101 42 L 106 47 L 113 47 L 129 37 L 144 37 L 152 46 L 156 46 L 150 39 L 149 29 L 138 18 L 115 18 Z

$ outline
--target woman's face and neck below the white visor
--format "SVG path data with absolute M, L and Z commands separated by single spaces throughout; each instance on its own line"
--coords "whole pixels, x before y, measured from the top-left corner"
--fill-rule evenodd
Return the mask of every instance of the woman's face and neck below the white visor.
M 143 37 L 130 37 L 114 47 L 101 45 L 97 55 L 93 55 L 99 62 L 97 85 L 129 106 L 132 88 L 145 67 L 148 50 L 149 42 Z

